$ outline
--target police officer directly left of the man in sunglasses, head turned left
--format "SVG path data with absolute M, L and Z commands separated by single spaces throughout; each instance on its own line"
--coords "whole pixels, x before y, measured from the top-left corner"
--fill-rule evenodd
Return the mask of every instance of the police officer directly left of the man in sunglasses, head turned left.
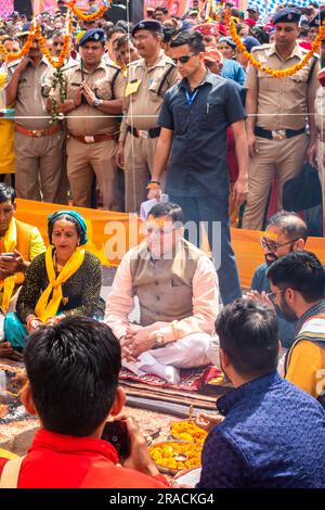
M 157 117 L 166 91 L 179 75 L 172 60 L 161 50 L 162 26 L 145 20 L 132 30 L 142 56 L 128 67 L 123 119 L 119 137 L 118 164 L 125 168 L 126 211 L 139 211 L 146 200 L 160 128 Z

